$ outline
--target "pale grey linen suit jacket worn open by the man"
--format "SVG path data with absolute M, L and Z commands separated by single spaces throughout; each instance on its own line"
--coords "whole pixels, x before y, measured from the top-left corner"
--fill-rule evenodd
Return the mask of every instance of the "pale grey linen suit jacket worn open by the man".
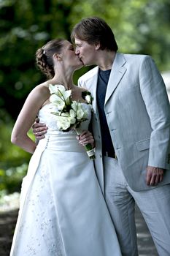
M 98 67 L 95 67 L 82 75 L 78 84 L 87 88 L 94 98 L 95 166 L 104 192 L 102 124 L 96 103 L 97 79 Z M 131 189 L 155 188 L 146 184 L 147 165 L 166 169 L 158 186 L 170 183 L 169 99 L 161 74 L 150 56 L 116 53 L 107 85 L 104 112 L 118 162 Z

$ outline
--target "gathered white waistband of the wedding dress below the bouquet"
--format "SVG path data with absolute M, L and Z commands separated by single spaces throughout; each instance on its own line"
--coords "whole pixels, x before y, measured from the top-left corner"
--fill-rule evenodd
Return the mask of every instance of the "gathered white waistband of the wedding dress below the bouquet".
M 56 151 L 82 152 L 83 147 L 78 143 L 75 133 L 53 133 L 39 140 L 37 148 L 47 148 Z

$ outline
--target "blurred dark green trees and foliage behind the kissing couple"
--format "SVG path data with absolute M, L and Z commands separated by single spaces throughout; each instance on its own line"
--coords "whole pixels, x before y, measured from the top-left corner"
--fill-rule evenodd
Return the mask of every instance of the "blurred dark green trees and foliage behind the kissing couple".
M 149 54 L 166 71 L 169 13 L 169 0 L 0 0 L 0 190 L 18 190 L 30 158 L 10 143 L 10 134 L 29 91 L 45 80 L 35 66 L 37 48 L 55 37 L 70 39 L 75 23 L 99 16 L 114 31 L 120 52 Z M 75 72 L 74 82 L 88 69 Z

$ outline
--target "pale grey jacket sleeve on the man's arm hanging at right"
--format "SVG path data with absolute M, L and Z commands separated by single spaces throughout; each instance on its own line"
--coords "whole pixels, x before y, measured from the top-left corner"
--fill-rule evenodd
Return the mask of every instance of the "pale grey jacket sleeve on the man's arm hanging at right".
M 148 165 L 166 169 L 170 143 L 169 99 L 163 78 L 150 56 L 142 61 L 139 83 L 152 127 Z

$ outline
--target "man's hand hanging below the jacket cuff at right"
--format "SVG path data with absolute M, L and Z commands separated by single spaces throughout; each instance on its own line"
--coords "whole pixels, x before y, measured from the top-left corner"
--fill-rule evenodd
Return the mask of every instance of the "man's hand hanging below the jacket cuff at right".
M 156 186 L 163 181 L 164 169 L 159 167 L 147 166 L 147 185 Z

